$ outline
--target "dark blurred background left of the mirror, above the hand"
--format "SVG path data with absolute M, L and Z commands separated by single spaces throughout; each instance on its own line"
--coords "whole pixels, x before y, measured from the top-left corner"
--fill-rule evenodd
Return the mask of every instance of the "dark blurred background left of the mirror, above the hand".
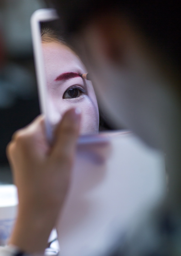
M 0 1 L 0 183 L 11 183 L 6 145 L 39 113 L 30 17 L 43 0 Z

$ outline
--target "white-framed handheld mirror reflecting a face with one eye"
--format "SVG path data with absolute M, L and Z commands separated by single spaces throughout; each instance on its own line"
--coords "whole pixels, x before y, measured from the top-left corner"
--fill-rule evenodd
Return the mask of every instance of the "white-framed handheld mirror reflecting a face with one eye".
M 81 110 L 81 135 L 99 131 L 99 110 L 92 82 L 81 76 L 87 70 L 56 30 L 57 20 L 53 9 L 37 10 L 31 18 L 40 108 L 50 142 L 53 128 L 70 108 Z

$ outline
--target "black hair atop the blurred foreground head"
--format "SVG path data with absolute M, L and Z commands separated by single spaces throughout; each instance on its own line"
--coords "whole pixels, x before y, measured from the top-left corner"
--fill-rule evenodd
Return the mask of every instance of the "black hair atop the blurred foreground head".
M 180 0 L 45 0 L 61 18 L 61 31 L 68 37 L 96 15 L 106 12 L 127 15 L 151 42 L 181 66 Z

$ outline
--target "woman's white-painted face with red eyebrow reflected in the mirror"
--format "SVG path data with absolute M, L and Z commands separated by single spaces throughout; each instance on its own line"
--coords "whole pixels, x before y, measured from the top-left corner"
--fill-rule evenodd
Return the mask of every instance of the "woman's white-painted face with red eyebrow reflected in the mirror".
M 81 134 L 97 133 L 97 100 L 92 83 L 78 75 L 86 73 L 82 62 L 69 47 L 61 43 L 43 42 L 42 47 L 51 122 L 56 124 L 65 111 L 78 107 L 82 112 Z

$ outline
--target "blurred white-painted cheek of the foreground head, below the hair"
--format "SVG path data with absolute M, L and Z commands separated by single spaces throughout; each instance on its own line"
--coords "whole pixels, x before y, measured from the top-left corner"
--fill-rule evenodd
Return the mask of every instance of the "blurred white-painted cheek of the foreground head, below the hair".
M 118 41 L 123 55 L 119 62 L 109 58 L 103 47 L 105 38 L 94 25 L 83 31 L 81 40 L 74 44 L 82 52 L 100 104 L 115 126 L 133 130 L 152 147 L 165 148 L 173 116 L 179 119 L 179 106 L 154 52 L 128 32 L 129 36 L 123 37 L 124 44 Z

